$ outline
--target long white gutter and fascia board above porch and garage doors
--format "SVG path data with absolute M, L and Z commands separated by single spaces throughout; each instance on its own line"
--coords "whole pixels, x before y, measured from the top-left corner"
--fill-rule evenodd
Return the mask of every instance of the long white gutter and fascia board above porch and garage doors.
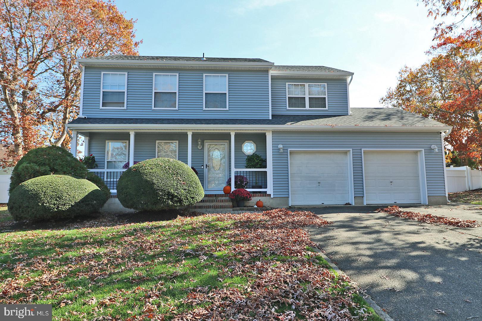
M 69 129 L 83 130 L 209 130 L 209 131 L 233 131 L 233 130 L 278 130 L 278 131 L 445 131 L 450 126 L 331 126 L 331 125 L 178 125 L 178 124 L 67 124 Z

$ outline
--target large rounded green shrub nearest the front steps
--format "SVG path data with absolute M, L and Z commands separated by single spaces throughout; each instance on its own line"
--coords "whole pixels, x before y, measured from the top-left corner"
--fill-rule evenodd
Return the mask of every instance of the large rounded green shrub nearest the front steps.
M 124 207 L 159 211 L 193 205 L 204 197 L 201 182 L 183 162 L 153 158 L 129 167 L 117 183 L 117 198 Z

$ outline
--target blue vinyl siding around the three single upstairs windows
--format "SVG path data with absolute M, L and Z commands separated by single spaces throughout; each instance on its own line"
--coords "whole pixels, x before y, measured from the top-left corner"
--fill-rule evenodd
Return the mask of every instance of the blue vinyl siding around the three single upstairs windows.
M 101 72 L 127 72 L 127 109 L 100 109 Z M 179 74 L 178 110 L 152 110 L 154 73 Z M 229 75 L 229 110 L 202 109 L 204 73 Z M 268 72 L 85 67 L 82 109 L 88 117 L 268 118 Z

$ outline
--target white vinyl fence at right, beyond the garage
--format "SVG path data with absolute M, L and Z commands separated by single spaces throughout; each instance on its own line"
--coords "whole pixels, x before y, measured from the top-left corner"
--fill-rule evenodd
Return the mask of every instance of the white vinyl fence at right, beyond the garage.
M 447 167 L 447 190 L 449 193 L 482 188 L 482 171 L 468 166 Z

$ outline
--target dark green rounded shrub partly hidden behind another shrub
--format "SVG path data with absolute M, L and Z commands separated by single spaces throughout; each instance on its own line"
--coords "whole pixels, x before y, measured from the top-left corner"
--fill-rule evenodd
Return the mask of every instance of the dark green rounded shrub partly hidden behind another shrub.
M 12 193 L 13 189 L 24 181 L 50 174 L 90 180 L 105 193 L 106 202 L 110 196 L 110 191 L 103 180 L 89 172 L 77 158 L 59 146 L 35 148 L 25 154 L 13 168 L 9 191 Z

